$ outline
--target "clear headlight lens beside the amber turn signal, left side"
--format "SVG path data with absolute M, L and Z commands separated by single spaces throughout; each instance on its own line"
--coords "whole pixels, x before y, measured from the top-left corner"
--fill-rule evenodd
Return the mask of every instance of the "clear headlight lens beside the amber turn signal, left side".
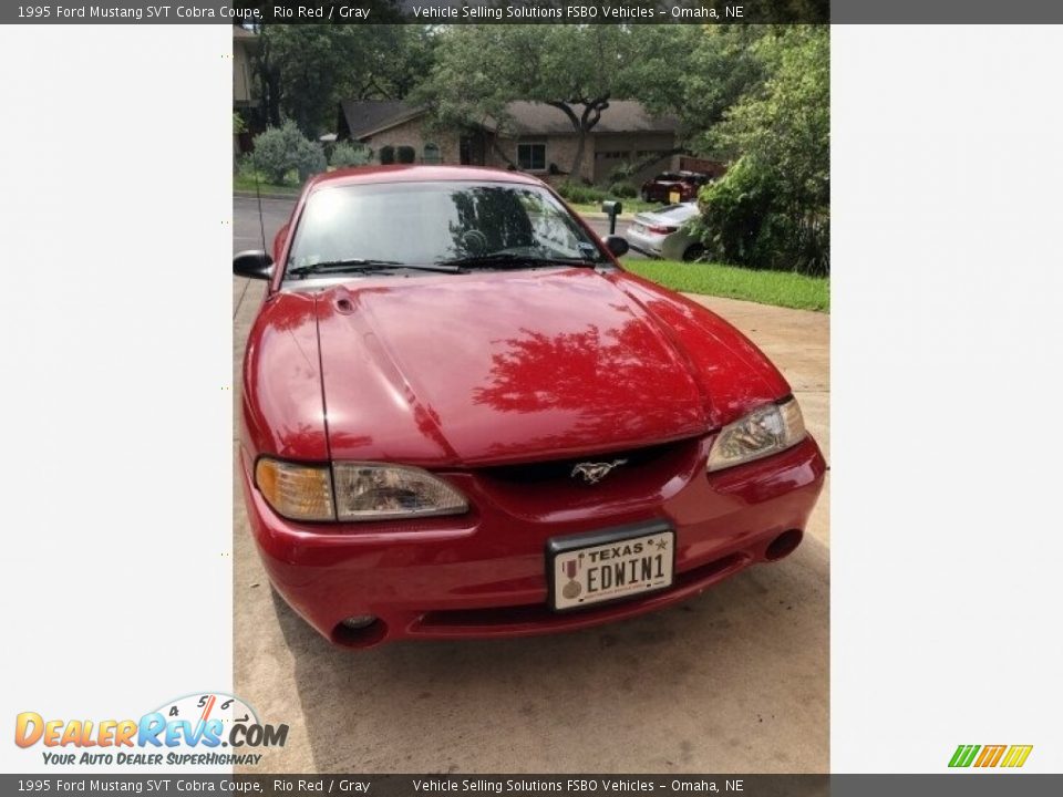
M 468 510 L 461 493 L 421 468 L 371 463 L 336 463 L 332 468 L 340 520 L 392 520 Z

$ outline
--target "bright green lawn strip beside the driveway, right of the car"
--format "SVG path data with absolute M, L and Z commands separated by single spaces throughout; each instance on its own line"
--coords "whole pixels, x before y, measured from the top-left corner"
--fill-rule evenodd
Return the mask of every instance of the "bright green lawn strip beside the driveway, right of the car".
M 625 260 L 623 267 L 672 290 L 744 299 L 796 310 L 830 311 L 830 279 L 720 263 Z

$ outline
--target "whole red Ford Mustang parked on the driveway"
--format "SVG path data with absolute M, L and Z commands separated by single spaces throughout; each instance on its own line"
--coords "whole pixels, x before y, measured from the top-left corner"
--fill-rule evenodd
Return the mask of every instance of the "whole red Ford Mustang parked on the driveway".
M 277 591 L 337 644 L 533 634 L 801 542 L 824 460 L 778 371 L 541 182 L 388 166 L 305 188 L 244 363 Z

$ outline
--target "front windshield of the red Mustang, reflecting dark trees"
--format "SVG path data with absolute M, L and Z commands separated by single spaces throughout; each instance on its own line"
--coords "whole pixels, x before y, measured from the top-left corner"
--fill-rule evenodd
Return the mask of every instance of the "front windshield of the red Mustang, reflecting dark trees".
M 321 188 L 307 200 L 288 271 L 378 261 L 401 268 L 472 259 L 607 262 L 543 188 L 510 183 L 380 183 Z

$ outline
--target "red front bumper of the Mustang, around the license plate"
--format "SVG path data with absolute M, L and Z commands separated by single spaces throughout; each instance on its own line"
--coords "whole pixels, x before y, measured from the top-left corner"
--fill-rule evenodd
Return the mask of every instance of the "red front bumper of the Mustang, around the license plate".
M 782 454 L 705 475 L 708 441 L 653 484 L 611 489 L 485 484 L 444 473 L 474 507 L 415 522 L 298 524 L 280 518 L 241 472 L 248 518 L 277 591 L 337 644 L 398 639 L 513 636 L 595 625 L 696 594 L 801 540 L 826 465 L 809 437 Z M 558 614 L 547 605 L 545 549 L 554 537 L 664 519 L 675 529 L 675 581 L 628 601 Z M 341 622 L 373 615 L 351 632 Z

